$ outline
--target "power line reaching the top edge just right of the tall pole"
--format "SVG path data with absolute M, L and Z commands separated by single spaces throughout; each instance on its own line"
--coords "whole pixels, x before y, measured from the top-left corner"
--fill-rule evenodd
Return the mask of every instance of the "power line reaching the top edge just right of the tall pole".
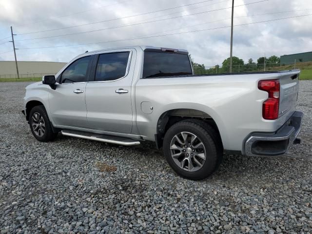
M 246 4 L 242 4 L 242 5 L 237 5 L 237 6 L 234 6 L 234 7 L 250 5 L 250 4 L 259 3 L 259 2 L 264 2 L 264 1 L 268 1 L 268 0 L 261 0 L 261 1 L 250 2 L 250 3 L 246 3 Z M 157 22 L 157 21 L 162 21 L 162 20 L 177 19 L 177 18 L 181 18 L 181 17 L 185 17 L 185 16 L 194 16 L 194 15 L 199 15 L 199 14 L 208 13 L 208 12 L 214 12 L 214 11 L 225 10 L 225 9 L 229 9 L 229 8 L 232 8 L 232 6 L 231 6 L 231 7 L 225 7 L 225 8 L 219 8 L 219 9 L 215 9 L 215 10 L 204 11 L 204 12 L 192 13 L 192 14 L 188 14 L 188 15 L 184 15 L 184 16 L 176 16 L 176 17 L 171 17 L 171 18 L 166 18 L 166 19 L 160 19 L 160 20 L 152 20 L 152 21 L 146 21 L 146 22 L 141 22 L 141 23 L 133 23 L 133 24 L 126 24 L 126 25 L 119 25 L 119 26 L 110 27 L 110 28 L 103 28 L 103 29 L 97 29 L 97 30 L 91 30 L 91 31 L 85 31 L 85 32 L 70 33 L 70 34 L 62 34 L 62 35 L 56 35 L 56 36 L 47 36 L 47 37 L 31 38 L 31 39 L 20 39 L 20 40 L 16 40 L 16 41 L 36 40 L 36 39 L 46 39 L 46 38 L 56 38 L 56 37 L 71 36 L 71 35 L 77 35 L 77 34 L 83 34 L 83 33 L 98 32 L 98 31 L 103 31 L 103 30 L 108 30 L 108 29 L 115 29 L 115 28 L 121 28 L 121 27 L 134 26 L 134 25 L 145 24 L 145 23 L 151 23 L 151 22 Z

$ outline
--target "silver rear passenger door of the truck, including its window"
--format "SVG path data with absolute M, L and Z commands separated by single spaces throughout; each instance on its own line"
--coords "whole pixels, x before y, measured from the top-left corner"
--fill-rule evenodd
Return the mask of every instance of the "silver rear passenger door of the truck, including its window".
M 87 121 L 90 129 L 125 133 L 132 131 L 131 83 L 135 50 L 110 51 L 95 58 L 86 86 Z

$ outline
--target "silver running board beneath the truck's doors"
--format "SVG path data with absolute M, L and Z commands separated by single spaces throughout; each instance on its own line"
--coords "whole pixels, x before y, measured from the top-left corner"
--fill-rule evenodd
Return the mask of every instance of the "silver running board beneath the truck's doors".
M 115 137 L 115 136 L 108 136 L 102 134 L 94 134 L 94 133 L 86 133 L 86 132 L 79 132 L 73 130 L 62 130 L 61 132 L 64 136 L 69 137 L 78 137 L 88 140 L 97 140 L 106 143 L 112 143 L 117 145 L 139 145 L 140 142 L 134 139 L 126 138 L 126 137 Z

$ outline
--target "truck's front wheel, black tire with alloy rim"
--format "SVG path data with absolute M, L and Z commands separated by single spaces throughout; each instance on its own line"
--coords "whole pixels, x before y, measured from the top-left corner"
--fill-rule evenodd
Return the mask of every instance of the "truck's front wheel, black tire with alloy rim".
M 35 106 L 29 113 L 29 126 L 34 137 L 39 141 L 52 141 L 58 133 L 54 133 L 44 106 Z

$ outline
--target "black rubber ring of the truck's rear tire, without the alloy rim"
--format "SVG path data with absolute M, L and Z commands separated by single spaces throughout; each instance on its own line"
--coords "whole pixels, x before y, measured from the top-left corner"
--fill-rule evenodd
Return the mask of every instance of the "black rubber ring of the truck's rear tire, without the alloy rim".
M 188 172 L 176 165 L 171 156 L 170 143 L 172 138 L 180 132 L 190 132 L 195 134 L 203 142 L 206 150 L 206 161 L 202 168 L 195 172 Z M 188 179 L 199 180 L 210 176 L 214 171 L 218 162 L 218 154 L 215 142 L 209 132 L 203 127 L 191 121 L 183 121 L 173 125 L 166 133 L 163 141 L 164 155 L 169 165 L 180 176 Z

